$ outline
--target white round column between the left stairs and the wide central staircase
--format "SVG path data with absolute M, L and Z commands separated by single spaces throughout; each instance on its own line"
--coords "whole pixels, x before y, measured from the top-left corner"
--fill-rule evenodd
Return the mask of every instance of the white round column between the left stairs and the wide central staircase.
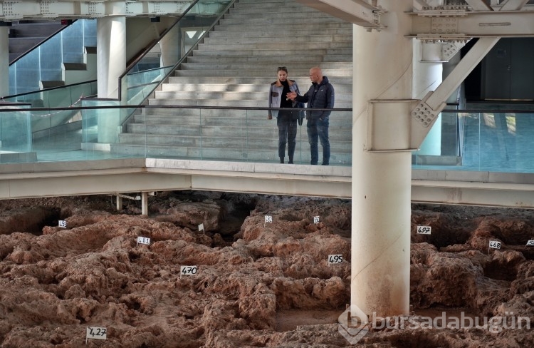
M 126 68 L 126 18 L 107 16 L 97 19 L 98 98 L 119 98 L 119 76 Z M 124 94 L 125 91 L 122 91 Z M 98 112 L 98 143 L 114 143 L 119 132 L 120 114 Z

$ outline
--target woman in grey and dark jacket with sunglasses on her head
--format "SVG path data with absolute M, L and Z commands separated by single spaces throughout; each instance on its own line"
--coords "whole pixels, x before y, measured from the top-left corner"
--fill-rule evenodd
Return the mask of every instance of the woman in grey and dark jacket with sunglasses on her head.
M 297 83 L 288 79 L 288 69 L 285 66 L 278 67 L 278 80 L 271 83 L 269 91 L 269 108 L 283 108 L 288 110 L 269 110 L 268 119 L 276 117 L 278 126 L 278 157 L 280 163 L 284 163 L 286 157 L 286 143 L 288 144 L 288 163 L 293 164 L 295 145 L 297 143 L 298 111 L 292 111 L 296 102 L 290 101 L 286 95 L 290 92 L 299 94 Z

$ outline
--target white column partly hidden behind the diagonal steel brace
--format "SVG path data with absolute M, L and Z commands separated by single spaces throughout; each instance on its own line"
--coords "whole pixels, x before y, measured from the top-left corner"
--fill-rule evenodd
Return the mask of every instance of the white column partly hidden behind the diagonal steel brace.
M 414 40 L 414 86 L 413 96 L 422 99 L 434 91 L 443 81 L 442 44 L 423 44 Z M 434 54 L 432 54 L 434 53 Z M 419 155 L 441 155 L 441 114 L 421 144 Z

